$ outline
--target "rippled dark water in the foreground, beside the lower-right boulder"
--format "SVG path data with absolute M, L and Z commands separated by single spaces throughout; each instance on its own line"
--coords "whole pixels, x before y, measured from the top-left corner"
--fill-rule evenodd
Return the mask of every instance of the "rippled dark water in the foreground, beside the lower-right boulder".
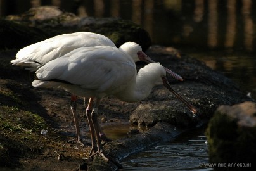
M 198 129 L 181 135 L 176 140 L 157 144 L 122 161 L 125 170 L 212 170 L 208 163 L 208 145 Z

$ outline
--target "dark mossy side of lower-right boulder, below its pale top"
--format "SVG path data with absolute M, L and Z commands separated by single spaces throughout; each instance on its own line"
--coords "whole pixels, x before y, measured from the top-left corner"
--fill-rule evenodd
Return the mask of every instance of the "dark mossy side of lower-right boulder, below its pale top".
M 237 122 L 236 118 L 215 112 L 206 130 L 211 163 L 253 162 L 256 127 L 240 127 Z

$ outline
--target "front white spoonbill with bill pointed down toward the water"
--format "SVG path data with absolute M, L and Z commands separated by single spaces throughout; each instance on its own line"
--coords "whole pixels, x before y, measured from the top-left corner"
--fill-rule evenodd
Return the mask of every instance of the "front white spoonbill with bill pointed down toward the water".
M 166 70 L 159 63 L 151 63 L 136 71 L 135 56 L 142 56 L 138 44 L 129 44 L 124 49 L 110 46 L 81 47 L 61 58 L 49 61 L 36 72 L 34 87 L 60 87 L 77 96 L 89 97 L 89 106 L 96 104 L 87 119 L 91 130 L 92 149 L 90 157 L 103 153 L 99 136 L 97 111 L 101 98 L 115 96 L 127 102 L 140 101 L 158 84 L 163 84 L 179 98 L 190 111 L 196 109 L 183 99 L 166 78 Z M 97 144 L 96 144 L 97 141 Z

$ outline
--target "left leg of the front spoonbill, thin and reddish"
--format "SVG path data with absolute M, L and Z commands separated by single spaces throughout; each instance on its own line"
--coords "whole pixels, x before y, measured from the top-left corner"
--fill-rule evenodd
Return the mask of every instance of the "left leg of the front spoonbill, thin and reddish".
M 97 151 L 97 144 L 96 144 L 96 139 L 95 139 L 95 130 L 94 130 L 94 126 L 93 126 L 93 120 L 91 120 L 91 113 L 93 113 L 93 98 L 89 99 L 89 103 L 88 106 L 86 108 L 86 117 L 88 120 L 88 125 L 91 131 L 91 144 L 92 144 L 92 148 L 91 151 L 89 153 L 89 156 L 92 155 L 92 153 L 95 153 L 95 151 Z

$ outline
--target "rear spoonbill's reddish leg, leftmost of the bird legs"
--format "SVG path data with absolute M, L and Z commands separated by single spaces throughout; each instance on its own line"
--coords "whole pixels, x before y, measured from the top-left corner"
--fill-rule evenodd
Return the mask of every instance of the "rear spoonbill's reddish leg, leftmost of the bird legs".
M 77 144 L 84 146 L 84 143 L 82 143 L 82 136 L 81 136 L 79 123 L 78 123 L 78 116 L 77 116 L 77 96 L 73 94 L 71 95 L 70 108 L 74 117 L 75 132 L 77 134 Z

